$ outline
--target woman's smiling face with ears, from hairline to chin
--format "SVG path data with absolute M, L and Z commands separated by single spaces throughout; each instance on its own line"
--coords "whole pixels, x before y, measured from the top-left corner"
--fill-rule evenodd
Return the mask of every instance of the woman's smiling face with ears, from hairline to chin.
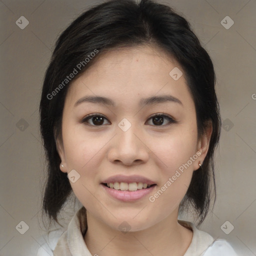
M 61 171 L 88 213 L 116 230 L 176 218 L 206 155 L 209 138 L 197 141 L 195 107 L 181 72 L 157 48 L 119 48 L 101 55 L 66 95 L 63 145 L 57 140 Z

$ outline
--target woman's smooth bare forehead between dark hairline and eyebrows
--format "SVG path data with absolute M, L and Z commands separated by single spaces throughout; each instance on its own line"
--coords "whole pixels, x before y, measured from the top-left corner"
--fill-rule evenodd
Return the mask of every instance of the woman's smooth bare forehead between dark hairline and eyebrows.
M 152 46 L 120 47 L 101 53 L 96 61 L 71 83 L 67 103 L 90 96 L 105 96 L 118 105 L 137 105 L 141 98 L 170 94 L 189 103 L 191 96 L 184 75 L 174 80 L 170 71 L 179 63 Z M 190 97 L 190 99 L 189 99 Z M 138 99 L 138 100 L 137 100 Z M 192 103 L 192 102 L 190 102 Z

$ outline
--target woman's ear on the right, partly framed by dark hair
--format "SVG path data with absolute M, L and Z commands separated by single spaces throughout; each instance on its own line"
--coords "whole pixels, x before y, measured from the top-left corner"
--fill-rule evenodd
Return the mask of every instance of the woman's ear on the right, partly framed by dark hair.
M 210 137 L 212 133 L 212 121 L 208 120 L 207 125 L 205 127 L 205 132 L 203 133 L 202 137 L 198 141 L 197 151 L 200 151 L 200 155 L 197 158 L 197 161 L 194 162 L 194 170 L 197 170 L 200 166 L 198 165 L 198 162 L 200 163 L 203 162 L 208 149 L 209 149 L 209 142 L 210 142 Z

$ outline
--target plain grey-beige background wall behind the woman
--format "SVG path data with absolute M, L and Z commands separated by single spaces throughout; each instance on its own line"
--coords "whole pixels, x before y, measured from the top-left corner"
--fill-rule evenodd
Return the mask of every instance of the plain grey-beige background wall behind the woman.
M 0 0 L 0 255 L 35 255 L 43 243 L 42 79 L 57 35 L 84 8 L 99 2 Z M 188 19 L 215 65 L 223 121 L 215 158 L 217 200 L 200 229 L 228 240 L 240 255 L 256 255 L 256 1 L 158 2 Z M 221 24 L 227 15 L 234 21 L 228 29 Z M 29 21 L 24 29 L 15 23 L 20 16 Z M 230 20 L 222 22 L 230 25 Z M 68 209 L 71 217 L 72 204 Z M 20 221 L 29 226 L 24 234 L 15 228 Z M 229 234 L 220 228 L 225 221 L 230 222 L 225 230 L 234 226 Z

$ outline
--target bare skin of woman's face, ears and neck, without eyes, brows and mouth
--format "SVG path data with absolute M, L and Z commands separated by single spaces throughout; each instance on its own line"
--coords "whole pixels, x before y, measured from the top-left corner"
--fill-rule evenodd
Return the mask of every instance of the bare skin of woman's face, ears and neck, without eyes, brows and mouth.
M 186 193 L 193 171 L 199 168 L 209 145 L 212 127 L 197 138 L 194 102 L 182 75 L 174 80 L 169 72 L 181 66 L 154 46 L 122 47 L 105 52 L 79 78 L 66 95 L 62 116 L 62 139 L 56 139 L 61 171 L 75 169 L 80 178 L 70 182 L 87 210 L 88 229 L 84 241 L 92 255 L 183 255 L 192 231 L 177 222 L 178 205 Z M 143 108 L 141 98 L 170 94 L 175 102 Z M 116 106 L 75 102 L 85 95 L 111 98 Z M 103 115 L 101 126 L 91 113 Z M 170 115 L 163 124 L 153 114 Z M 118 123 L 126 118 L 131 127 Z M 94 124 L 94 126 L 92 126 Z M 165 125 L 166 124 L 166 125 Z M 189 157 L 201 155 L 154 201 L 148 200 Z M 149 195 L 135 202 L 110 197 L 100 183 L 115 174 L 138 174 L 157 184 Z M 118 226 L 126 221 L 130 230 Z

